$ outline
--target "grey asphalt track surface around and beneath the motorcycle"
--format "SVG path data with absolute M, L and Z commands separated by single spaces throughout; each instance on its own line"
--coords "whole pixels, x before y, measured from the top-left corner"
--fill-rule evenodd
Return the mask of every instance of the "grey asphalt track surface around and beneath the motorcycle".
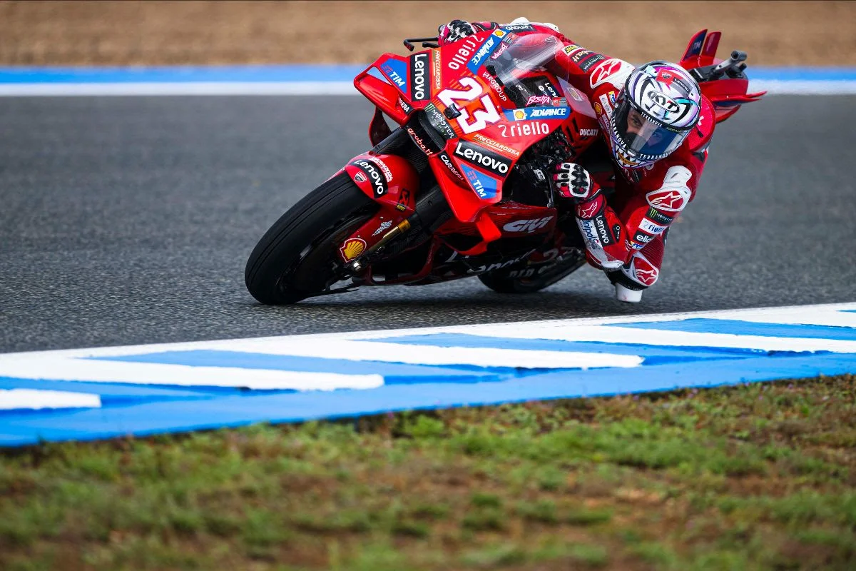
M 368 146 L 358 97 L 3 98 L 0 352 L 856 299 L 856 97 L 776 96 L 717 128 L 642 303 L 585 268 L 261 306 L 244 265 Z

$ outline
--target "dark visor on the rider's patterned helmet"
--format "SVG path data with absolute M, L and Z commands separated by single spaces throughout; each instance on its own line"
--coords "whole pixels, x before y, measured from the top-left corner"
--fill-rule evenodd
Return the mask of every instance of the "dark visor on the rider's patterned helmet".
M 675 131 L 663 127 L 661 122 L 635 109 L 623 98 L 615 110 L 615 132 L 628 154 L 642 161 L 657 161 L 675 151 L 688 131 Z

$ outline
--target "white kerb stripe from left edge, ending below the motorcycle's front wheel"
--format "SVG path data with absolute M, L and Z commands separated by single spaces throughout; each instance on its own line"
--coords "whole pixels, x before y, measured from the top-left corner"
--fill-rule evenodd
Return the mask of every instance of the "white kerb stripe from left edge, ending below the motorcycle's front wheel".
M 0 375 L 12 378 L 86 381 L 90 383 L 175 384 L 236 387 L 256 390 L 375 389 L 380 375 L 342 375 L 326 372 L 269 371 L 234 367 L 161 365 L 68 359 L 62 356 L 7 360 Z

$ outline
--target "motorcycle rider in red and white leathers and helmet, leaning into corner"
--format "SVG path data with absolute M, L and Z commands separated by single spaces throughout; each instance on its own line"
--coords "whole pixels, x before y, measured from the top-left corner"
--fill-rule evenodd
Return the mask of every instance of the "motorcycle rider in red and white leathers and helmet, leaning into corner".
M 550 23 L 518 18 L 506 26 L 520 42 L 533 33 L 561 41 L 547 68 L 586 95 L 595 110 L 615 171 L 609 204 L 591 173 L 570 158 L 556 164 L 552 184 L 574 206 L 589 264 L 606 272 L 616 299 L 638 302 L 657 282 L 669 225 L 695 195 L 713 134 L 710 102 L 675 63 L 635 67 L 574 44 Z M 439 43 L 497 27 L 453 20 L 438 28 Z

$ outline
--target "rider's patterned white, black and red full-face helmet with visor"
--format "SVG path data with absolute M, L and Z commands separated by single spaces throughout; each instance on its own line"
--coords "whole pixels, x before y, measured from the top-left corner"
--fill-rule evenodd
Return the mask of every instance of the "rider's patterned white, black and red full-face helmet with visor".
M 700 105 L 698 83 L 676 63 L 648 62 L 634 69 L 610 121 L 615 160 L 634 169 L 668 157 L 695 127 Z

